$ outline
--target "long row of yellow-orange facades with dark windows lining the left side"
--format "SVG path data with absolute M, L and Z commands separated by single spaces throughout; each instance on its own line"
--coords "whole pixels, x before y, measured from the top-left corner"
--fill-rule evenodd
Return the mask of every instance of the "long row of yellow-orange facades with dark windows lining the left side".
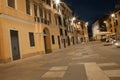
M 50 53 L 75 44 L 70 18 L 72 10 L 64 2 L 0 0 L 0 62 Z

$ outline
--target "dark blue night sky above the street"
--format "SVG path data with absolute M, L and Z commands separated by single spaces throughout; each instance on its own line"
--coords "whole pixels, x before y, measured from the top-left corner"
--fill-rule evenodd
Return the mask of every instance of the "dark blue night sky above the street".
M 112 13 L 117 0 L 62 0 L 73 10 L 73 16 L 91 24 L 99 17 Z M 118 0 L 120 1 L 120 0 Z

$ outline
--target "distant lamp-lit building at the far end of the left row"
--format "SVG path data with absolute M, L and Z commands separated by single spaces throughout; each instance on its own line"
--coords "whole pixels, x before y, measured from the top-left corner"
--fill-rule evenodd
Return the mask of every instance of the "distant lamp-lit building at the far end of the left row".
M 83 42 L 87 43 L 89 41 L 87 28 L 88 23 L 83 20 L 76 19 L 72 26 L 74 30 L 75 44 Z

